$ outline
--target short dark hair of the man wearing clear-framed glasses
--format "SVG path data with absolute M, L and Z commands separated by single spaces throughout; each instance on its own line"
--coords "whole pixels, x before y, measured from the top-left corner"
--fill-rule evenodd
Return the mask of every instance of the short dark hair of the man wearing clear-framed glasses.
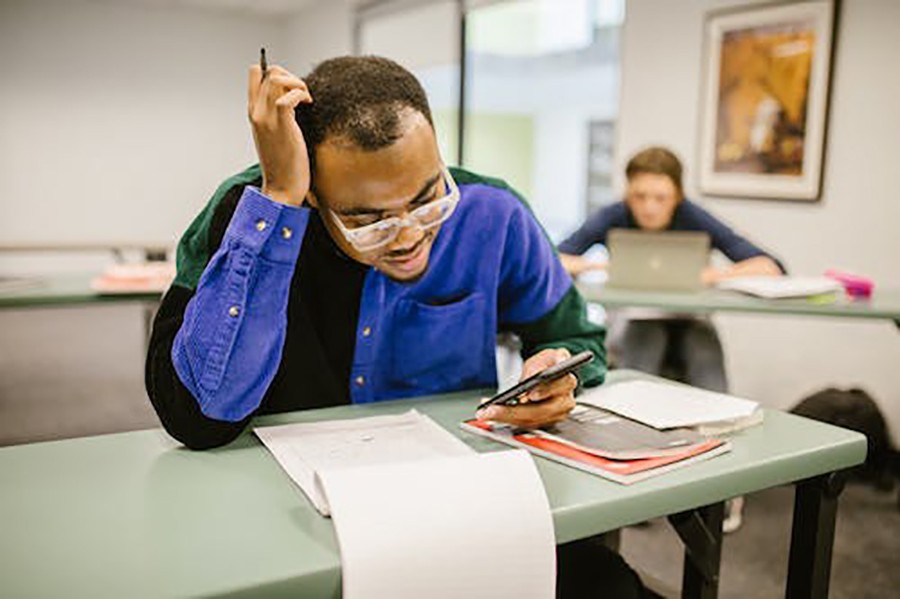
M 392 145 L 403 134 L 400 117 L 414 110 L 433 126 L 425 90 L 415 76 L 379 56 L 342 56 L 320 63 L 305 78 L 312 104 L 300 104 L 297 122 L 314 160 L 315 148 L 341 137 L 363 150 Z

